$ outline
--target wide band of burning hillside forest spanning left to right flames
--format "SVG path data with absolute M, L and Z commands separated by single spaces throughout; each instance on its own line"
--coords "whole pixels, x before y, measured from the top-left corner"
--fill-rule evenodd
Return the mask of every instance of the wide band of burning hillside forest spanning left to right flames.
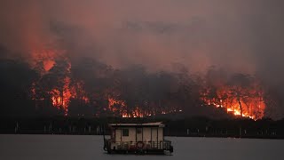
M 114 69 L 91 59 L 71 61 L 61 51 L 36 55 L 26 67 L 35 75 L 24 92 L 29 108 L 39 115 L 212 116 L 216 109 L 221 110 L 220 117 L 257 120 L 266 116 L 272 101 L 255 76 L 217 68 L 209 68 L 203 76 L 191 75 L 185 68 L 151 73 L 142 66 Z

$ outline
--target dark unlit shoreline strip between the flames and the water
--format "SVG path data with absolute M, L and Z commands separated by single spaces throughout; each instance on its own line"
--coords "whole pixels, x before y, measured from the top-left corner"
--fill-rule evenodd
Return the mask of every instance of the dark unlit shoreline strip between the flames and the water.
M 168 118 L 17 118 L 0 119 L 0 133 L 15 134 L 110 134 L 110 123 L 149 123 L 166 124 L 166 136 L 189 137 L 232 137 L 284 139 L 284 119 L 219 119 L 191 117 L 185 119 Z

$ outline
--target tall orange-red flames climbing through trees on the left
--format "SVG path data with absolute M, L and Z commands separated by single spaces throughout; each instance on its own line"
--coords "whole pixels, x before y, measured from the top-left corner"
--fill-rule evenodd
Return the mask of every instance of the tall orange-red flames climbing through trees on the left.
M 61 57 L 64 52 L 52 51 L 52 50 L 43 50 L 32 52 L 33 63 L 31 64 L 33 68 L 37 68 L 41 76 L 48 74 L 56 65 L 56 59 Z M 67 73 L 62 79 L 63 85 L 47 91 L 51 96 L 51 103 L 55 108 L 62 108 L 64 110 L 64 115 L 68 114 L 68 107 L 70 100 L 73 98 L 82 99 L 85 103 L 89 103 L 89 98 L 84 94 L 83 82 L 75 82 L 71 84 L 71 78 L 68 76 L 71 72 L 71 63 L 67 58 L 64 58 L 67 61 L 67 68 L 63 72 Z M 43 69 L 41 69 L 43 68 Z M 36 96 L 36 82 L 32 85 L 32 99 L 33 100 L 44 100 L 43 98 L 37 98 Z

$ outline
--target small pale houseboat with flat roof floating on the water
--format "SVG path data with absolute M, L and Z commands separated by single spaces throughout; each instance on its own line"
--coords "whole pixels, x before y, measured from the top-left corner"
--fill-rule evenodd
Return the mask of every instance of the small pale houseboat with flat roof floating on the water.
M 170 155 L 173 147 L 164 139 L 162 123 L 108 124 L 110 139 L 104 136 L 104 150 L 108 154 L 165 154 Z

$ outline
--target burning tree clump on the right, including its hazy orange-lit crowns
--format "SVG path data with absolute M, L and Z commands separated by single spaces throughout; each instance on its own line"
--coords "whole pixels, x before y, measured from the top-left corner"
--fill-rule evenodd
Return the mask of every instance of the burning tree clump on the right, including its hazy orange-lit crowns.
M 201 100 L 215 108 L 225 108 L 234 116 L 261 119 L 264 117 L 264 91 L 256 77 L 234 75 L 229 82 L 224 79 L 207 84 L 201 92 Z

